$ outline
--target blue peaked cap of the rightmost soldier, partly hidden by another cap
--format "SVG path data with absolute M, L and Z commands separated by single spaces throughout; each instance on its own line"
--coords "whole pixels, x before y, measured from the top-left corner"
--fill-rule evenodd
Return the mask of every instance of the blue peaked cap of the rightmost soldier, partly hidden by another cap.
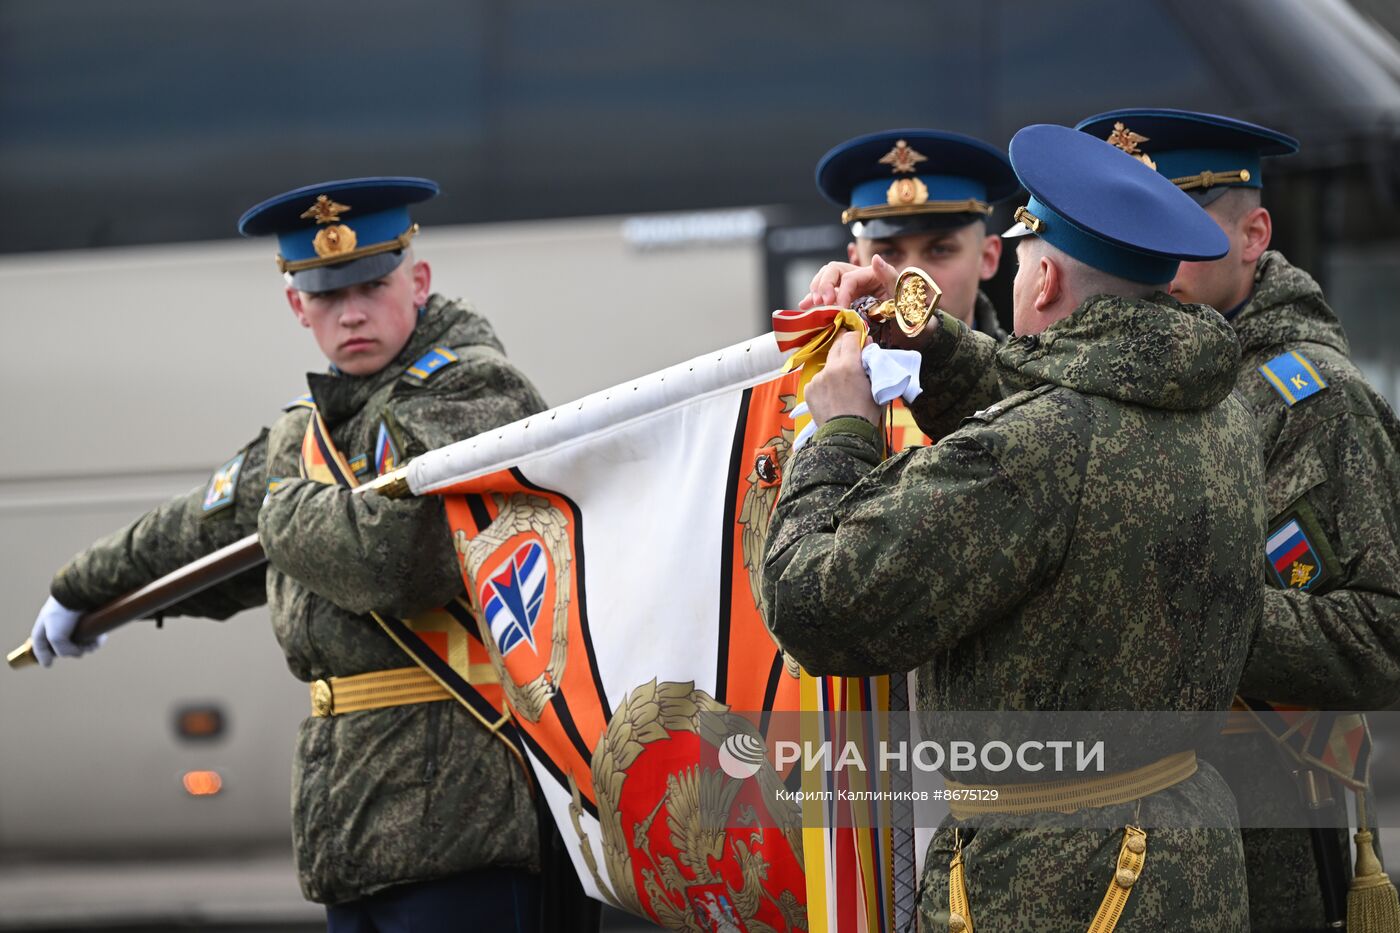
M 1263 160 L 1298 151 L 1298 140 L 1287 133 L 1196 111 L 1109 111 L 1075 129 L 1147 161 L 1203 205 L 1231 188 L 1263 188 Z

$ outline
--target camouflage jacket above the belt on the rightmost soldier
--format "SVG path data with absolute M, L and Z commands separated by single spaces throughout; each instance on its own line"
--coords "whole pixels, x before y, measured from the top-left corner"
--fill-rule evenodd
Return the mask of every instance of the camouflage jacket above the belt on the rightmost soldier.
M 1400 422 L 1348 357 L 1317 283 L 1282 255 L 1264 254 L 1254 293 L 1232 322 L 1242 347 L 1236 387 L 1264 445 L 1268 535 L 1296 521 L 1310 552 L 1281 576 L 1266 556 L 1270 588 L 1240 692 L 1322 709 L 1393 706 L 1400 700 Z M 1284 354 L 1285 364 L 1296 364 L 1294 352 L 1326 388 L 1291 403 L 1260 367 Z M 1296 375 L 1303 388 L 1285 387 L 1302 395 L 1313 375 Z

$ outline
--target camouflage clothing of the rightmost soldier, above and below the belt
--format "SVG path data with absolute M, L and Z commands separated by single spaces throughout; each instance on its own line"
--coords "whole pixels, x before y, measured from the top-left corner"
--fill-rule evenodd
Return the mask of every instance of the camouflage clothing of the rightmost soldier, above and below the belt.
M 1233 318 L 1238 388 L 1254 412 L 1266 458 L 1268 530 L 1298 516 L 1331 567 L 1312 591 L 1273 573 L 1259 636 L 1245 665 L 1246 696 L 1320 709 L 1385 709 L 1400 700 L 1400 423 L 1351 363 L 1341 322 L 1322 289 L 1266 252 L 1254 291 Z M 1289 406 L 1259 366 L 1301 352 L 1327 388 Z M 1263 734 L 1239 735 L 1217 762 L 1240 801 L 1302 820 L 1291 759 Z M 1340 792 L 1338 792 L 1340 793 Z M 1266 803 L 1267 801 L 1267 803 Z M 1282 825 L 1282 824 L 1281 824 Z M 1350 866 L 1345 831 L 1330 834 Z M 1257 930 L 1319 929 L 1322 895 L 1306 829 L 1246 829 L 1250 915 Z

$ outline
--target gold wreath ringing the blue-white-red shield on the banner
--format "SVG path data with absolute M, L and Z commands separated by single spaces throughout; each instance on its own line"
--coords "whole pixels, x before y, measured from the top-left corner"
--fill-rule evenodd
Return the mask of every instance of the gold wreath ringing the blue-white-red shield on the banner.
M 496 500 L 496 521 L 487 525 L 486 531 L 476 538 L 468 538 L 462 531 L 454 535 L 458 560 L 468 579 L 476 580 L 482 565 L 496 551 L 512 537 L 525 532 L 535 532 L 545 551 L 549 552 L 549 562 L 554 565 L 554 615 L 553 633 L 550 637 L 549 664 L 528 684 L 517 684 L 505 668 L 501 657 L 501 647 L 482 622 L 482 642 L 491 656 L 491 665 L 501 678 L 501 689 L 510 700 L 515 713 L 526 720 L 539 721 L 545 706 L 559 691 L 559 684 L 564 678 L 564 663 L 568 660 L 568 601 L 570 581 L 568 567 L 574 562 L 574 551 L 568 544 L 568 524 L 564 514 L 542 496 L 515 493 L 511 496 L 493 495 Z M 469 591 L 472 608 L 476 618 L 484 619 L 483 608 L 477 602 L 480 598 L 476 587 Z

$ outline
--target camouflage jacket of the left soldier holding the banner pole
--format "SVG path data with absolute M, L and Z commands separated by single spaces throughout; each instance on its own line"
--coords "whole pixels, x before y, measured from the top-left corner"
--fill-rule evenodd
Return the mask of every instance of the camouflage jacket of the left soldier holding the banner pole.
M 458 361 L 414 375 L 410 367 L 440 346 Z M 490 324 L 440 296 L 379 373 L 311 374 L 308 382 L 353 466 L 360 454 L 372 464 L 381 424 L 402 462 L 543 408 L 505 361 Z M 309 417 L 294 405 L 241 451 L 225 504 L 206 511 L 204 486 L 172 499 L 76 556 L 55 577 L 53 595 L 94 607 L 256 531 L 267 567 L 168 615 L 227 618 L 266 601 L 287 665 L 302 681 L 412 665 L 365 614 L 407 616 L 462 591 L 442 503 L 353 496 L 297 479 Z M 279 485 L 265 502 L 272 481 Z M 325 904 L 538 863 L 529 780 L 455 702 L 307 719 L 297 740 L 293 836 L 302 891 Z

